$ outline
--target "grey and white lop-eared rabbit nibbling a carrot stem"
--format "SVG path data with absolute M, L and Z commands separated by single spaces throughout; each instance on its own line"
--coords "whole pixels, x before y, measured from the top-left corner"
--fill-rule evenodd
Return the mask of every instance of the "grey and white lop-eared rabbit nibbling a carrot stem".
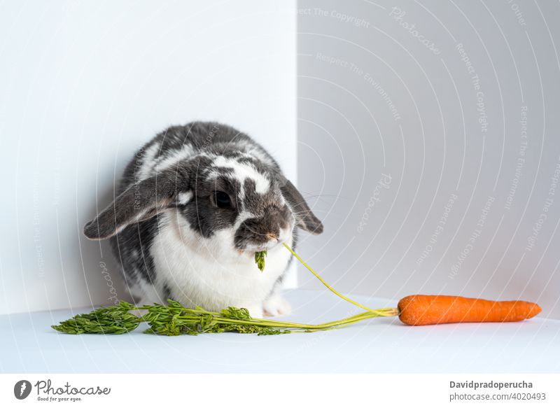
M 117 192 L 84 234 L 110 239 L 137 304 L 290 313 L 281 282 L 293 257 L 282 243 L 323 224 L 251 137 L 218 122 L 169 127 L 138 151 Z

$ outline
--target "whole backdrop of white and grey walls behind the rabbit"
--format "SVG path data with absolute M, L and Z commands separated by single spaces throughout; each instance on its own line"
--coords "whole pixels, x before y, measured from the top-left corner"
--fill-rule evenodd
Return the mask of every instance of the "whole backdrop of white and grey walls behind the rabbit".
M 134 149 L 167 125 L 227 122 L 294 178 L 297 56 L 300 186 L 325 222 L 300 252 L 327 281 L 391 299 L 521 298 L 560 317 L 558 191 L 526 250 L 560 155 L 558 3 L 301 0 L 297 52 L 294 1 L 1 7 L 0 312 L 105 302 L 99 262 L 122 293 L 108 248 L 81 229 Z M 484 93 L 484 134 L 458 43 Z M 382 174 L 391 185 L 376 190 Z M 484 227 L 451 274 L 489 197 Z

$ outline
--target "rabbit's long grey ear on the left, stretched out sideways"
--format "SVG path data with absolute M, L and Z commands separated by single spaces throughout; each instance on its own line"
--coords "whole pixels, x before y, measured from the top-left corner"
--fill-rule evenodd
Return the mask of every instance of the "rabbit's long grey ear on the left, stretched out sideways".
M 163 171 L 122 192 L 106 209 L 87 223 L 83 233 L 89 239 L 106 239 L 127 225 L 156 216 L 176 204 L 176 197 L 190 190 L 186 171 Z

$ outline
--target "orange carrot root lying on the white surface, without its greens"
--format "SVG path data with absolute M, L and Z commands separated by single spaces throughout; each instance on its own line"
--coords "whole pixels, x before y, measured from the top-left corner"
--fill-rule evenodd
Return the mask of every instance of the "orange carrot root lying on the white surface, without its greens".
M 539 305 L 522 300 L 496 302 L 461 296 L 411 295 L 398 302 L 399 318 L 407 325 L 516 322 L 535 317 Z

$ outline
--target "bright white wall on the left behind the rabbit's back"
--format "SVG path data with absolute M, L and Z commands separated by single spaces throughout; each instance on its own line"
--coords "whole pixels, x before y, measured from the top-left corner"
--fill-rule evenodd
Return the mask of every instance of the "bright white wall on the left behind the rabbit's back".
M 168 125 L 248 132 L 295 178 L 295 1 L 4 1 L 0 313 L 124 294 L 81 234 Z M 105 262 L 105 264 L 102 264 Z M 106 272 L 100 265 L 106 265 Z

